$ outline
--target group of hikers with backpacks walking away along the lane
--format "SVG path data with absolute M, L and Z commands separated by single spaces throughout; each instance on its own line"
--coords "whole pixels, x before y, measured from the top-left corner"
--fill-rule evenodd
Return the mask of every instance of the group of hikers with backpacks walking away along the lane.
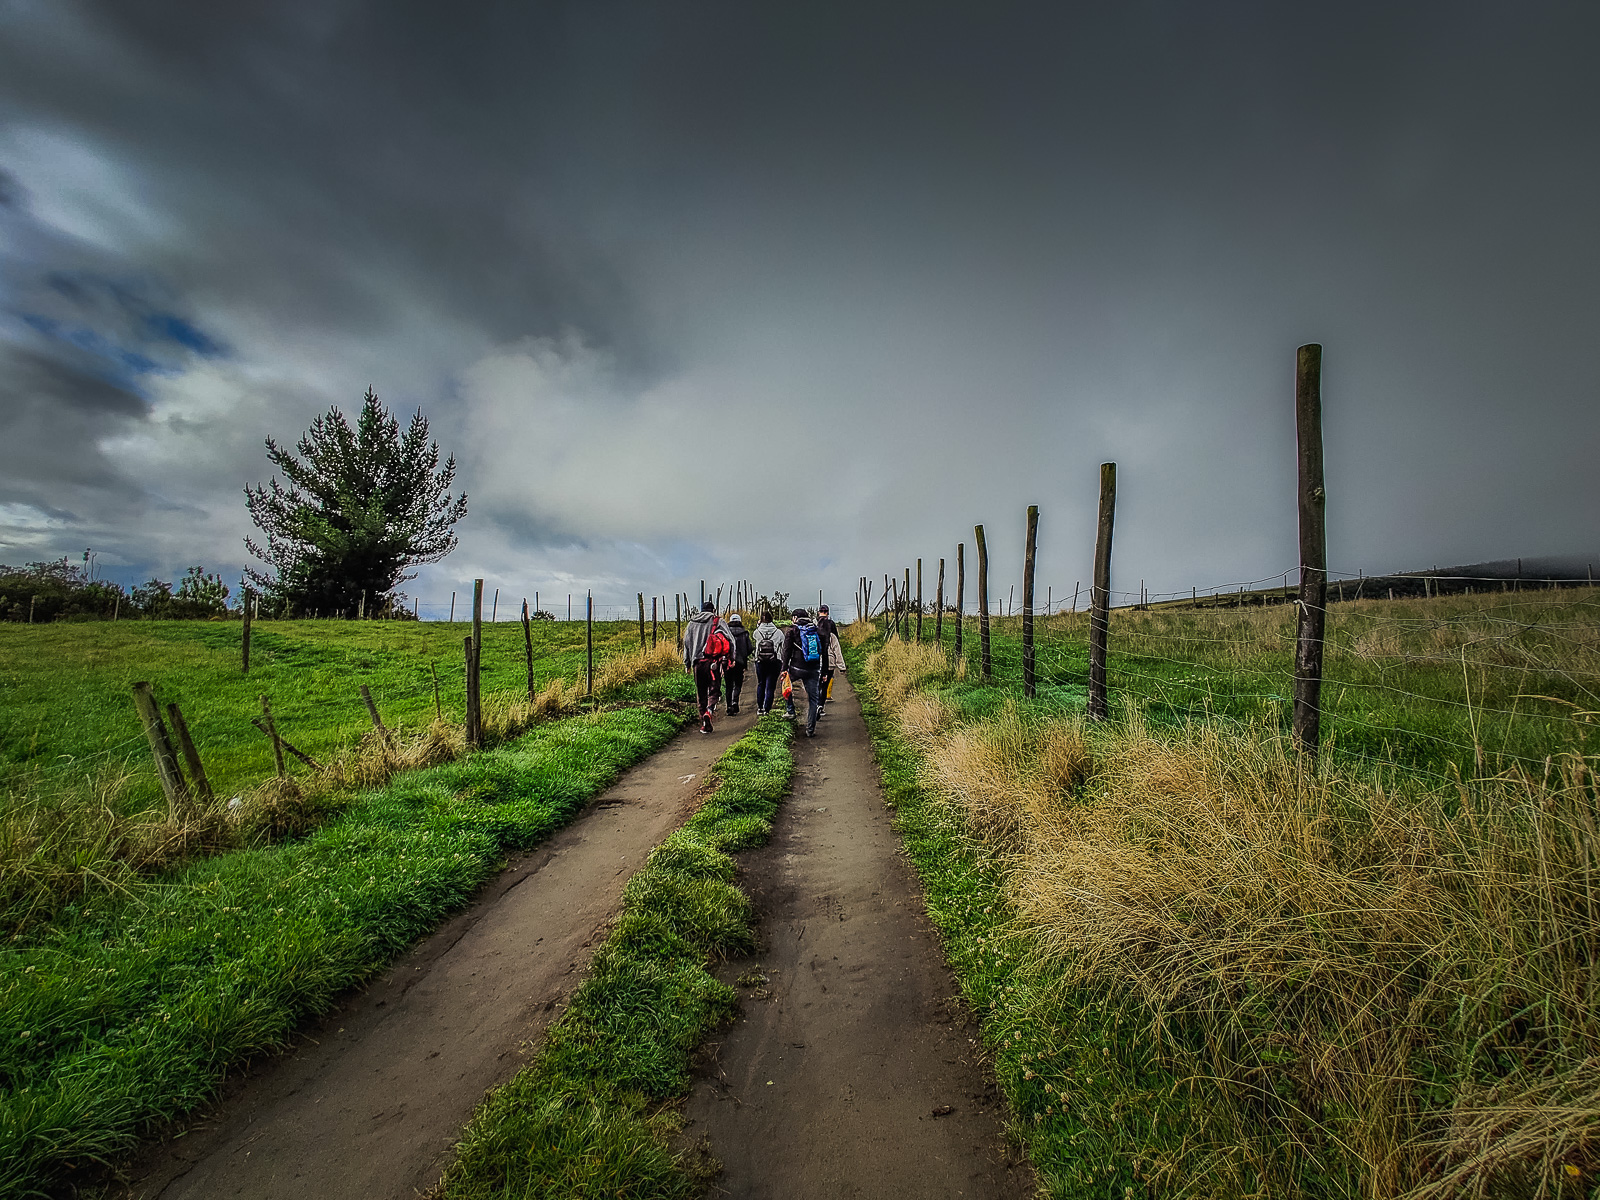
M 805 608 L 789 613 L 790 624 L 773 622 L 773 611 L 763 610 L 760 624 L 750 632 L 744 618 L 717 614 L 707 600 L 683 629 L 683 666 L 694 677 L 701 733 L 712 731 L 717 702 L 726 694 L 728 715 L 739 712 L 744 672 L 755 662 L 755 712 L 773 710 L 779 691 L 784 698 L 784 720 L 795 718 L 794 690 L 805 688 L 805 736 L 816 738 L 816 722 L 822 715 L 834 688 L 834 672 L 845 669 L 845 651 L 838 645 L 838 626 L 819 605 L 816 619 Z

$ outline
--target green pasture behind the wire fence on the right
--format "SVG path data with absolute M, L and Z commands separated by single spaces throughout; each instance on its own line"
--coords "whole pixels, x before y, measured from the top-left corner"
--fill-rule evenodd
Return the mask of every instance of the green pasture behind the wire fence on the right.
M 1021 618 L 994 619 L 997 680 L 1022 677 Z M 1082 707 L 1088 616 L 1037 622 L 1040 694 Z M 933 622 L 923 618 L 925 637 Z M 954 629 L 944 627 L 946 645 Z M 976 670 L 978 619 L 965 658 Z M 1288 728 L 1294 606 L 1114 610 L 1109 691 L 1150 720 L 1222 717 Z M 1323 746 L 1371 763 L 1464 776 L 1587 746 L 1600 715 L 1600 590 L 1362 600 L 1328 610 Z

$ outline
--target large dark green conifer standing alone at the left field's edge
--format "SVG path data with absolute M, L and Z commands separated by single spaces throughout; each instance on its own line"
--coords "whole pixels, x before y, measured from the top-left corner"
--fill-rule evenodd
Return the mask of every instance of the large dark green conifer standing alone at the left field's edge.
M 384 611 L 405 568 L 434 563 L 456 549 L 451 526 L 467 515 L 466 493 L 451 496 L 456 459 L 438 466 L 421 410 L 400 432 L 366 389 L 354 429 L 338 406 L 312 421 L 291 453 L 267 438 L 267 458 L 283 472 L 245 488 L 251 520 L 267 536 L 245 546 L 269 571 L 250 578 L 280 611 L 352 618 Z

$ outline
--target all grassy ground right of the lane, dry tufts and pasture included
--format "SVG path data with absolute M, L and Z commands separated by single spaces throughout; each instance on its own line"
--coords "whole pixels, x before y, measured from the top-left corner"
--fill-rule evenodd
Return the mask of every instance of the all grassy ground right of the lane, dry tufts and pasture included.
M 1059 619 L 1032 702 L 1010 621 L 992 683 L 851 651 L 1051 1195 L 1595 1186 L 1600 830 L 1589 726 L 1557 715 L 1600 707 L 1594 595 L 1344 610 L 1315 774 L 1274 677 L 1286 613 L 1114 614 L 1104 725 Z M 1362 726 L 1386 736 L 1341 738 Z

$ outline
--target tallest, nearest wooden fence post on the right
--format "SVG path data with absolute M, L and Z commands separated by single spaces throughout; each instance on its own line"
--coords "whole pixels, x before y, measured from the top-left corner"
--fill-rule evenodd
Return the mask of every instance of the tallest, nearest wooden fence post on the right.
M 1299 445 L 1301 589 L 1294 642 L 1294 742 L 1315 760 L 1322 733 L 1322 640 L 1328 618 L 1328 528 L 1322 480 L 1322 346 L 1301 346 L 1294 363 Z

